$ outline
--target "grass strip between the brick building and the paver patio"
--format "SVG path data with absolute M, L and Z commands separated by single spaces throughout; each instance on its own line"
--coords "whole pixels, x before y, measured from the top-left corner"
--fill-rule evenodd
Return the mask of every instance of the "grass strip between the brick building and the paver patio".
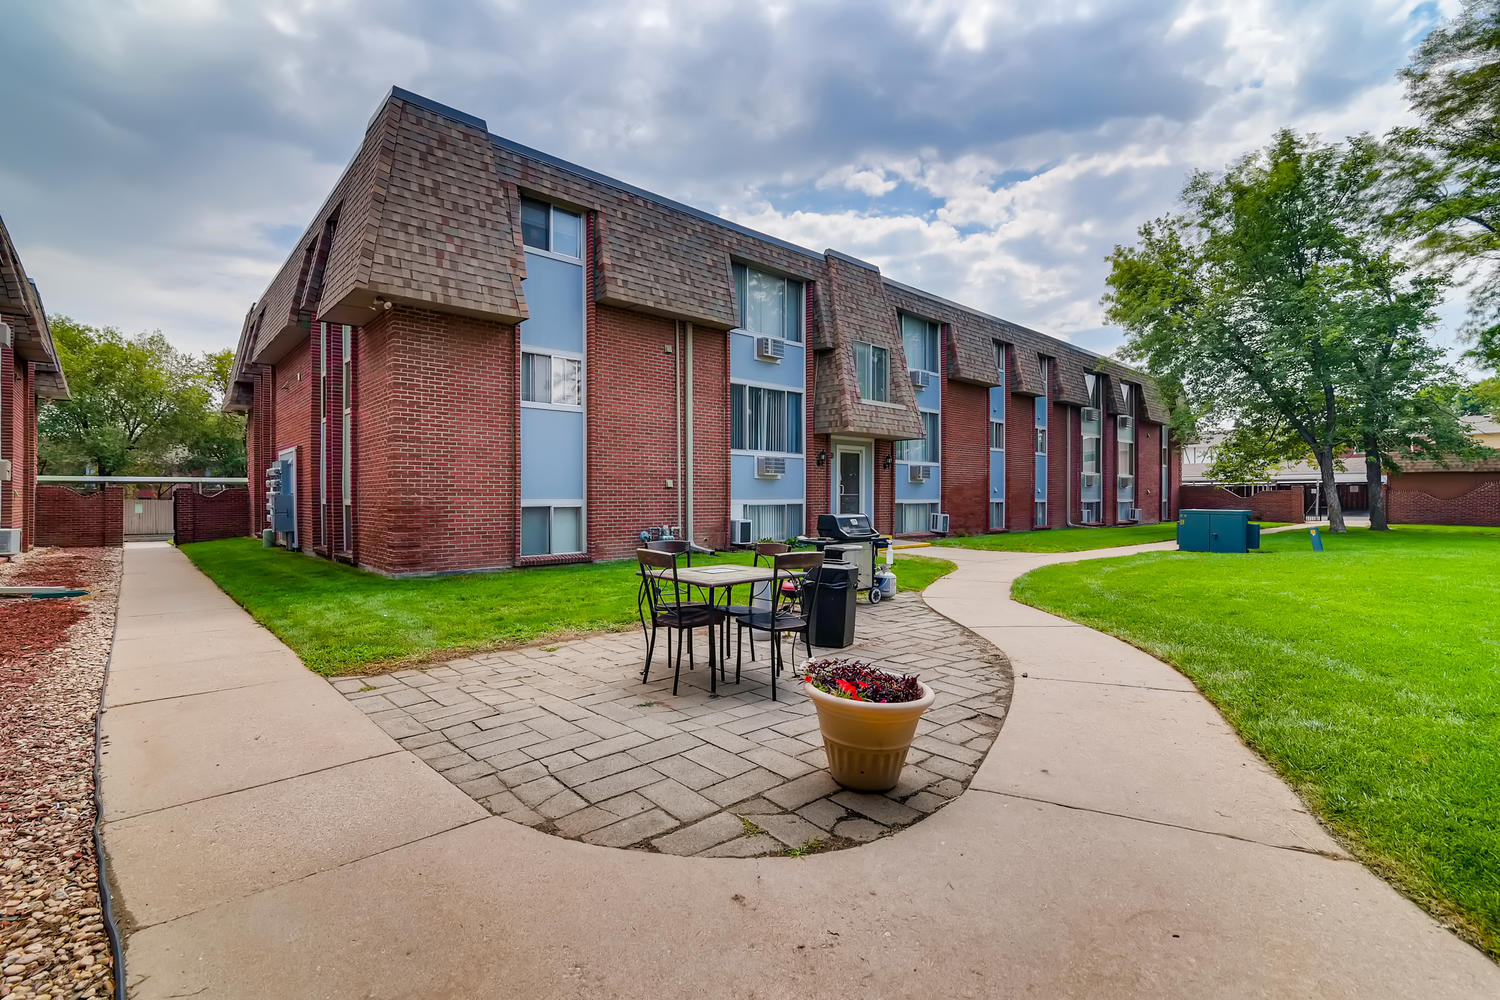
M 255 538 L 183 546 L 183 553 L 318 673 L 362 673 L 459 652 L 612 631 L 636 624 L 636 564 L 388 577 L 262 549 Z M 748 562 L 748 553 L 699 559 Z M 902 589 L 954 568 L 903 556 Z

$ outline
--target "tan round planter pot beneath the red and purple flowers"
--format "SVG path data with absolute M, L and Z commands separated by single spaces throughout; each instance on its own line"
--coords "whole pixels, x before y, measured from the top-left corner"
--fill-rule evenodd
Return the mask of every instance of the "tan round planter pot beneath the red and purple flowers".
M 921 681 L 918 681 L 921 684 Z M 850 702 L 802 684 L 818 708 L 824 730 L 828 772 L 834 781 L 855 792 L 888 792 L 902 780 L 906 753 L 916 735 L 916 721 L 938 697 L 930 687 L 915 702 L 879 705 Z

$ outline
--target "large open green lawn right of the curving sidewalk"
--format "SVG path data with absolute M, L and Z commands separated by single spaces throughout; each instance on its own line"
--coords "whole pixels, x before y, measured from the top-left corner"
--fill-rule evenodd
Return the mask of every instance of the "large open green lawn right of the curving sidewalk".
M 1044 567 L 1014 597 L 1179 667 L 1360 859 L 1500 955 L 1500 529 L 1324 541 Z

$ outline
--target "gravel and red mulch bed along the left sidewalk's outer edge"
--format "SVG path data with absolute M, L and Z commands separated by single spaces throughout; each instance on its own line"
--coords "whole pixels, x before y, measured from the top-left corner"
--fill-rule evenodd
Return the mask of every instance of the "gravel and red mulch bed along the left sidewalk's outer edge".
M 93 763 L 120 562 L 120 549 L 39 549 L 0 567 L 0 585 L 90 589 L 0 601 L 0 1000 L 112 994 Z

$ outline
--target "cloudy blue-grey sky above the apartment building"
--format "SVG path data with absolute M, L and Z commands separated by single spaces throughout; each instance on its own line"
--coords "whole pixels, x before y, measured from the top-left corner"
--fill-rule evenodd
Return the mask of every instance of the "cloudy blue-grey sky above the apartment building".
M 1278 126 L 1404 120 L 1456 0 L 18 0 L 0 214 L 48 310 L 232 346 L 399 84 L 1096 351 L 1104 256 Z M 1444 309 L 1450 340 L 1462 303 Z

